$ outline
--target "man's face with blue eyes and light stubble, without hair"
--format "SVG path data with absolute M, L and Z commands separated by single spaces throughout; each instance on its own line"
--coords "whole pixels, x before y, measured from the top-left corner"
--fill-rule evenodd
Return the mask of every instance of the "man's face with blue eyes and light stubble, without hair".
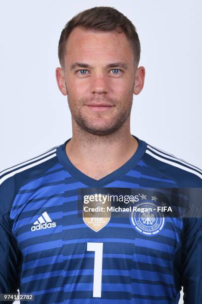
M 76 124 L 95 135 L 119 129 L 130 117 L 135 84 L 134 54 L 125 34 L 76 27 L 64 59 L 65 88 Z

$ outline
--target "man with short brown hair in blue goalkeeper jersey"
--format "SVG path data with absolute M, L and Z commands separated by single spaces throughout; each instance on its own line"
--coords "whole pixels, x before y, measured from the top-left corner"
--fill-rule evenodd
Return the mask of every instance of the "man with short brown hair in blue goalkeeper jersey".
M 202 187 L 199 168 L 130 133 L 145 78 L 134 25 L 111 7 L 85 10 L 65 25 L 58 55 L 72 138 L 0 174 L 0 293 L 168 304 L 183 286 L 184 303 L 202 303 L 201 218 L 78 217 L 78 189 L 137 188 L 152 204 L 147 189 Z

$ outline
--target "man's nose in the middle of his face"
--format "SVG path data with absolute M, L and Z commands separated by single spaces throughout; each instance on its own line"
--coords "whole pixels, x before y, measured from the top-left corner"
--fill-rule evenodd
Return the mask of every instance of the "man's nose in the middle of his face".
M 91 77 L 91 93 L 103 94 L 109 91 L 109 82 L 106 75 L 99 74 Z

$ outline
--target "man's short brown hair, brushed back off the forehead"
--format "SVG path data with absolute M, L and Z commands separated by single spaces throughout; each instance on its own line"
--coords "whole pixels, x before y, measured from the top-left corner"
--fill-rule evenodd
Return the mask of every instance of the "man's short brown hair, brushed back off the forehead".
M 135 56 L 135 64 L 138 66 L 141 48 L 134 24 L 114 7 L 96 6 L 81 11 L 69 20 L 63 28 L 58 44 L 58 57 L 61 67 L 64 66 L 64 52 L 67 39 L 71 31 L 77 26 L 95 31 L 116 30 L 118 33 L 123 31 L 131 43 Z

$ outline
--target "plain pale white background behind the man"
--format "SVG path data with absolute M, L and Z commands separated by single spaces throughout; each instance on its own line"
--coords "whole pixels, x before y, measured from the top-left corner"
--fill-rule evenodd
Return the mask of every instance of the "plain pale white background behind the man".
M 202 167 L 200 0 L 7 0 L 0 9 L 0 169 L 71 137 L 67 98 L 55 80 L 58 40 L 70 18 L 100 5 L 125 14 L 141 42 L 146 81 L 134 96 L 131 133 Z

